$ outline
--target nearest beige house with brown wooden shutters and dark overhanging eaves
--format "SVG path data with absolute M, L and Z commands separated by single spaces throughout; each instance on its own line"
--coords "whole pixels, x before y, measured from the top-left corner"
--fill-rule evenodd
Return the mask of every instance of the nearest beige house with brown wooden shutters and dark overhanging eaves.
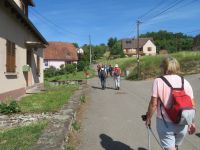
M 48 44 L 28 18 L 33 0 L 0 0 L 0 100 L 43 85 L 43 48 Z

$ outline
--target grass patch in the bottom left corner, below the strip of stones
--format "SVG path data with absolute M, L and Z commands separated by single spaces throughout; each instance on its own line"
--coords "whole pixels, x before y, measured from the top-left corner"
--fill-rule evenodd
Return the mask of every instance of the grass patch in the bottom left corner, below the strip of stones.
M 39 139 L 47 121 L 0 132 L 1 150 L 28 150 Z

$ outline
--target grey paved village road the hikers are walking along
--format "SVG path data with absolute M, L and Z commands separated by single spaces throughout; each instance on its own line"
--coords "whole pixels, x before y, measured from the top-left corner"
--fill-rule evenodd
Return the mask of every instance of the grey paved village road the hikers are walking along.
M 187 135 L 181 150 L 200 150 L 200 75 L 187 76 L 197 100 L 197 134 Z M 91 86 L 90 105 L 82 122 L 80 150 L 145 150 L 148 136 L 141 115 L 147 110 L 153 80 L 121 81 L 121 90 L 113 89 L 113 80 L 108 88 L 100 89 L 98 78 L 88 80 Z M 155 116 L 155 115 L 154 115 Z M 155 117 L 152 121 L 155 130 Z M 157 135 L 157 133 L 156 133 Z M 151 136 L 151 149 L 160 147 Z

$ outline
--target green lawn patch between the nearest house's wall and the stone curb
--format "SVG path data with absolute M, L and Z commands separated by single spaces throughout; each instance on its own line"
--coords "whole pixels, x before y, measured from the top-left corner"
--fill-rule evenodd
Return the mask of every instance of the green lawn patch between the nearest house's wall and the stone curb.
M 78 85 L 47 86 L 44 93 L 23 97 L 19 101 L 21 112 L 54 112 L 67 101 Z

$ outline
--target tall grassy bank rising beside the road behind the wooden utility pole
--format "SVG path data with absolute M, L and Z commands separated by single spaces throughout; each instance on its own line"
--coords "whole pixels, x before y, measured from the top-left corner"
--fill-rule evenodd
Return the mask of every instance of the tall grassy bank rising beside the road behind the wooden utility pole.
M 181 75 L 200 73 L 200 52 L 185 51 L 170 54 L 175 57 L 181 65 Z M 155 78 L 161 75 L 160 63 L 164 55 L 140 57 L 140 79 Z M 100 60 L 99 63 L 119 64 L 122 71 L 129 70 L 129 80 L 137 80 L 137 59 L 136 57 L 119 58 L 114 60 Z

